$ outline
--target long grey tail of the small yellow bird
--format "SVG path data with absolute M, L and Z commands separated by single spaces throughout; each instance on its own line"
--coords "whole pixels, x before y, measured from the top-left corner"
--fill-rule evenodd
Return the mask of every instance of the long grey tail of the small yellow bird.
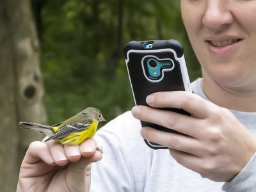
M 53 129 L 49 125 L 34 124 L 29 122 L 19 122 L 19 127 L 22 129 L 34 129 L 44 133 L 46 136 L 52 136 L 54 133 Z

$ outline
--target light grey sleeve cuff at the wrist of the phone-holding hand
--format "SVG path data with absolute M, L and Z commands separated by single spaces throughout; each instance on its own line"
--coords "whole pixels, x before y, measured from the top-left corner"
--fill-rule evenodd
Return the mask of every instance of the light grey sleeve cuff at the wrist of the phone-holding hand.
M 254 191 L 256 189 L 256 153 L 243 170 L 230 182 L 225 182 L 223 191 Z

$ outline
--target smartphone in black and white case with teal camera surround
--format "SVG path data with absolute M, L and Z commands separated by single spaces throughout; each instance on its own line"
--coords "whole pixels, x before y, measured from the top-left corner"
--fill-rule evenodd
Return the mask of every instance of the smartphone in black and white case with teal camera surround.
M 154 92 L 191 92 L 184 48 L 177 40 L 132 41 L 125 45 L 124 57 L 136 105 L 148 106 L 146 97 Z M 183 109 L 161 109 L 190 115 Z M 141 126 L 182 134 L 150 122 L 141 121 Z M 167 148 L 148 140 L 145 143 L 154 149 Z

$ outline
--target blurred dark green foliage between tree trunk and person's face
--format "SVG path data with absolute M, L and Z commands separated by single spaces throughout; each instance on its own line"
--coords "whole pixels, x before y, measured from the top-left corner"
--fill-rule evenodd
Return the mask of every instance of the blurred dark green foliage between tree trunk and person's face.
M 184 44 L 191 80 L 200 74 L 176 0 L 47 1 L 42 29 L 49 124 L 88 106 L 108 120 L 132 108 L 122 56 L 131 40 L 175 38 Z

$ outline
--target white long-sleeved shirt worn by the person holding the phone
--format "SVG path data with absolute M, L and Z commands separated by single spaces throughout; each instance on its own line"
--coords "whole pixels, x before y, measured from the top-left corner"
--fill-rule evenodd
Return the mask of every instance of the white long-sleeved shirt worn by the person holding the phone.
M 192 90 L 207 99 L 200 81 L 191 84 Z M 232 113 L 256 136 L 256 113 Z M 149 148 L 140 129 L 140 121 L 128 111 L 97 131 L 95 140 L 104 153 L 101 161 L 93 163 L 90 191 L 222 191 L 223 182 L 204 179 L 184 168 L 170 156 L 169 150 Z M 256 191 L 256 155 L 232 182 L 225 183 L 223 190 Z

